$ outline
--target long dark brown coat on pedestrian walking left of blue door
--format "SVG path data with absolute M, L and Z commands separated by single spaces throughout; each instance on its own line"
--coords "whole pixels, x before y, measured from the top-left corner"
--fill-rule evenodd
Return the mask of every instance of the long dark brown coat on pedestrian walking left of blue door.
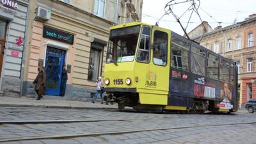
M 45 95 L 45 81 L 46 81 L 46 74 L 45 72 L 38 72 L 35 81 L 35 90 L 38 90 L 39 95 Z

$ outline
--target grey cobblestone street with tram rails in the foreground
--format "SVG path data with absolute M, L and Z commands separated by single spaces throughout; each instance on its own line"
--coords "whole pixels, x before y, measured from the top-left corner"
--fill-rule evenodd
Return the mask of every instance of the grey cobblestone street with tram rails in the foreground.
M 53 108 L 0 108 L 0 111 L 2 143 L 255 143 L 256 140 L 253 136 L 256 115 L 246 111 L 231 115 Z

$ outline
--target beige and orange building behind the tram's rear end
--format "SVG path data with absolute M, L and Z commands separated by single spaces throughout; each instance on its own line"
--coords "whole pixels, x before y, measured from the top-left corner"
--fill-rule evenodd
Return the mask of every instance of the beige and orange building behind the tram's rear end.
M 256 15 L 250 15 L 243 22 L 207 31 L 200 41 L 211 51 L 236 61 L 238 66 L 239 106 L 243 107 L 248 99 L 256 98 Z M 193 33 L 191 31 L 190 33 Z M 191 37 L 199 41 L 201 36 Z

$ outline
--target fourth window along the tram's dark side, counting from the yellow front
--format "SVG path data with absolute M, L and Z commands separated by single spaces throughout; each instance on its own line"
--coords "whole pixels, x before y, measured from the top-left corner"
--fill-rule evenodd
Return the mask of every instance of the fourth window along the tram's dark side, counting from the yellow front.
M 220 81 L 229 83 L 229 63 L 225 60 L 220 61 Z

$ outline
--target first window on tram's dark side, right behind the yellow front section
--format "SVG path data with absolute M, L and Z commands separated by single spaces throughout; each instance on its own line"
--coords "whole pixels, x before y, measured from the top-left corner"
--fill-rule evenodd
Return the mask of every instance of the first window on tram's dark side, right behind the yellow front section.
M 189 44 L 172 36 L 172 63 L 171 67 L 188 71 Z

